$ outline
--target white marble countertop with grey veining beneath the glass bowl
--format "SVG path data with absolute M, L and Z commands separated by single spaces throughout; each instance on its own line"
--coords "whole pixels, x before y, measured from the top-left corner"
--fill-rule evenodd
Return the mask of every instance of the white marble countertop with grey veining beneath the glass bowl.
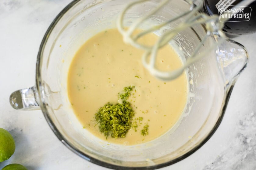
M 40 110 L 18 111 L 9 95 L 35 83 L 36 56 L 46 29 L 71 0 L 0 1 L 0 127 L 16 141 L 15 154 L 0 169 L 19 163 L 28 170 L 107 169 L 66 148 L 54 135 Z M 224 119 L 212 136 L 188 158 L 162 170 L 256 169 L 256 34 L 235 38 L 250 61 L 239 77 Z

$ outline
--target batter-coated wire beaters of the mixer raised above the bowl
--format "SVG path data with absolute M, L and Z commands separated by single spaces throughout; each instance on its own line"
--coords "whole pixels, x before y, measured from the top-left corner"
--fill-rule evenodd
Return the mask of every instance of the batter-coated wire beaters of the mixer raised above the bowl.
M 204 13 L 200 13 L 199 10 L 202 7 L 202 1 L 199 1 L 199 3 L 194 5 L 193 0 L 185 0 L 189 5 L 190 9 L 184 13 L 181 13 L 180 15 L 177 15 L 171 19 L 169 19 L 167 22 L 161 23 L 159 25 L 152 26 L 137 35 L 134 35 L 133 32 L 150 16 L 154 15 L 156 12 L 161 10 L 163 6 L 165 6 L 168 2 L 172 0 L 163 0 L 159 3 L 159 5 L 151 10 L 147 15 L 141 17 L 128 29 L 124 29 L 124 15 L 126 12 L 132 8 L 133 5 L 137 5 L 139 3 L 143 3 L 149 0 L 138 0 L 135 2 L 130 3 L 127 5 L 127 7 L 123 10 L 121 15 L 119 15 L 119 18 L 117 20 L 117 28 L 119 32 L 123 36 L 124 42 L 139 48 L 143 49 L 145 52 L 142 56 L 142 63 L 144 67 L 155 77 L 162 79 L 162 80 L 173 80 L 177 77 L 179 77 L 183 71 L 194 62 L 200 60 L 202 57 L 207 56 L 207 53 L 209 53 L 210 50 L 216 49 L 218 44 L 221 44 L 225 39 L 225 34 L 221 31 L 223 27 L 223 22 L 220 22 L 218 15 L 206 15 Z M 240 2 L 239 5 L 244 5 L 252 2 L 252 0 L 247 0 L 246 2 Z M 181 22 L 178 24 L 175 28 L 168 30 L 167 32 L 163 32 L 162 35 L 159 37 L 158 41 L 153 46 L 146 46 L 143 44 L 140 44 L 138 42 L 138 39 L 142 36 L 145 36 L 146 34 L 150 32 L 154 32 L 156 30 L 159 30 L 163 28 L 165 25 L 168 25 L 169 23 L 172 23 L 180 18 L 184 18 L 184 22 Z M 160 71 L 155 67 L 156 62 L 156 56 L 158 49 L 162 48 L 163 46 L 167 45 L 174 37 L 181 32 L 184 29 L 189 29 L 190 27 L 197 25 L 197 24 L 204 24 L 206 28 L 206 34 L 202 38 L 201 42 L 196 46 L 194 49 L 194 53 L 190 54 L 189 59 L 183 64 L 183 66 L 179 69 L 173 70 L 173 71 Z M 217 35 L 218 36 L 218 42 L 215 42 L 212 46 L 208 47 L 207 50 L 202 51 L 199 53 L 199 49 L 201 46 L 203 46 L 204 42 L 207 40 L 208 37 Z

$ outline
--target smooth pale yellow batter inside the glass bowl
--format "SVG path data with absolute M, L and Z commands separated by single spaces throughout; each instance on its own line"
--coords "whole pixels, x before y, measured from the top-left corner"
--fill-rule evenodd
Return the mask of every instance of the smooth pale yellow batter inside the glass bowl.
M 154 44 L 158 36 L 151 33 L 140 39 Z M 110 29 L 89 39 L 77 51 L 69 68 L 68 95 L 74 113 L 84 128 L 92 134 L 118 144 L 140 144 L 167 132 L 180 118 L 187 102 L 185 73 L 175 80 L 163 82 L 151 76 L 143 67 L 143 51 L 126 45 L 117 29 Z M 171 46 L 158 52 L 157 66 L 174 70 L 182 62 Z M 106 139 L 95 126 L 94 114 L 108 102 L 116 104 L 118 93 L 124 87 L 135 86 L 128 101 L 135 111 L 134 118 L 143 117 L 135 132 L 132 128 L 126 138 Z M 148 123 L 148 135 L 140 130 Z

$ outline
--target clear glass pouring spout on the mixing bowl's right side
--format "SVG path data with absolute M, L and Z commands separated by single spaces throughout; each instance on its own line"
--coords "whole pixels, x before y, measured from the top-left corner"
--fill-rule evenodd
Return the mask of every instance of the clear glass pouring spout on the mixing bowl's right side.
M 246 68 L 248 53 L 243 45 L 226 39 L 216 50 L 219 68 L 222 71 L 226 88 L 236 82 L 237 77 Z

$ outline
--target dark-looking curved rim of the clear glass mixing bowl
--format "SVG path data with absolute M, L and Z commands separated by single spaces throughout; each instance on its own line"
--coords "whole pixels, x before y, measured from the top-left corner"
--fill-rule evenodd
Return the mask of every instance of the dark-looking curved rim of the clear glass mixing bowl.
M 219 125 L 222 121 L 222 118 L 224 116 L 224 113 L 225 113 L 225 110 L 226 110 L 226 107 L 227 107 L 227 104 L 228 104 L 228 101 L 229 101 L 229 97 L 230 97 L 230 94 L 233 90 L 234 84 L 230 85 L 229 88 L 226 88 L 224 90 L 226 93 L 224 94 L 224 100 L 223 100 L 223 103 L 222 103 L 222 109 L 220 110 L 220 113 L 219 113 L 219 118 L 216 121 L 212 130 L 204 137 L 204 139 L 201 140 L 201 142 L 199 142 L 197 145 L 195 145 L 190 151 L 186 152 L 185 154 L 181 155 L 180 157 L 175 158 L 171 161 L 167 161 L 165 163 L 158 164 L 158 165 L 126 167 L 126 166 L 119 166 L 119 165 L 107 163 L 105 161 L 101 161 L 97 158 L 93 158 L 93 157 L 83 153 L 78 148 L 76 148 L 73 144 L 71 144 L 67 139 L 65 139 L 64 136 L 60 133 L 58 128 L 53 123 L 51 117 L 48 115 L 46 104 L 44 103 L 44 101 L 42 101 L 43 90 L 42 90 L 42 87 L 41 87 L 41 84 L 42 84 L 42 79 L 41 79 L 41 66 L 42 66 L 41 58 L 42 57 L 41 56 L 44 52 L 44 47 L 45 47 L 46 42 L 48 41 L 48 37 L 51 35 L 52 30 L 54 29 L 55 25 L 59 22 L 59 20 L 62 18 L 62 16 L 65 15 L 66 12 L 69 11 L 69 9 L 71 9 L 74 5 L 76 5 L 80 1 L 81 0 L 73 0 L 64 9 L 62 9 L 62 11 L 59 12 L 59 14 L 55 17 L 55 19 L 53 20 L 51 25 L 48 27 L 46 33 L 44 34 L 44 37 L 41 41 L 41 45 L 39 47 L 39 51 L 38 51 L 38 55 L 37 55 L 36 87 L 37 87 L 38 95 L 39 95 L 39 103 L 40 103 L 41 110 L 44 114 L 44 117 L 45 117 L 47 123 L 49 124 L 49 126 L 51 127 L 52 131 L 54 132 L 54 134 L 57 136 L 57 138 L 59 138 L 59 140 L 67 148 L 69 148 L 71 151 L 73 151 L 74 153 L 76 153 L 80 157 L 82 157 L 82 158 L 86 159 L 87 161 L 90 161 L 90 162 L 92 162 L 96 165 L 100 165 L 100 166 L 106 167 L 106 168 L 117 169 L 117 170 L 130 170 L 130 169 L 131 170 L 132 169 L 137 169 L 137 170 L 148 169 L 148 170 L 151 170 L 151 169 L 158 169 L 158 168 L 163 168 L 163 167 L 166 167 L 166 166 L 169 166 L 169 165 L 173 165 L 173 164 L 187 158 L 188 156 L 192 155 L 195 151 L 197 151 L 199 148 L 201 148 L 212 137 L 212 135 L 215 133 L 215 131 L 219 127 Z

